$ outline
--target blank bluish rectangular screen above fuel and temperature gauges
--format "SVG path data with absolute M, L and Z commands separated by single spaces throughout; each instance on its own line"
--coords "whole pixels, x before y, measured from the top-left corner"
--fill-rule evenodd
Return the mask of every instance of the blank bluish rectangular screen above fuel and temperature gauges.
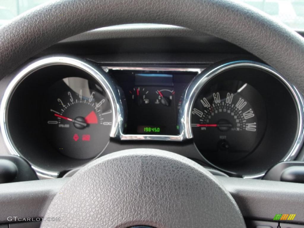
M 136 86 L 173 86 L 172 74 L 135 74 Z

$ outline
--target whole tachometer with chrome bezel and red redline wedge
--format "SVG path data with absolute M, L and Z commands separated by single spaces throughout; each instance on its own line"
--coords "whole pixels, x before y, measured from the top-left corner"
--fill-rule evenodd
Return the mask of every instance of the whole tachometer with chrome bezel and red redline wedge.
M 98 157 L 123 131 L 121 92 L 102 69 L 68 56 L 27 64 L 3 97 L 2 134 L 42 178 Z

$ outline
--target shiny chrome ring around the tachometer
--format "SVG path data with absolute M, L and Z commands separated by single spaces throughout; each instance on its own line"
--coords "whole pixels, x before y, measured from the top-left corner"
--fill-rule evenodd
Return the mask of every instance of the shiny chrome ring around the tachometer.
M 22 67 L 17 75 L 9 83 L 8 87 L 5 90 L 5 93 L 2 98 L 0 105 L 0 127 L 1 133 L 5 142 L 6 147 L 12 155 L 20 156 L 18 150 L 13 146 L 12 141 L 9 138 L 9 130 L 7 126 L 7 107 L 12 96 L 12 93 L 15 91 L 17 86 L 23 81 L 24 78 L 29 76 L 31 73 L 47 66 L 51 65 L 68 65 L 77 67 L 88 74 L 90 74 L 96 81 L 98 81 L 102 87 L 105 89 L 107 95 L 109 96 L 109 101 L 112 106 L 112 128 L 110 131 L 110 137 L 118 137 L 123 133 L 123 117 L 124 110 L 123 105 L 120 99 L 120 92 L 117 89 L 116 85 L 112 80 L 105 74 L 104 71 L 98 70 L 98 66 L 91 64 L 85 60 L 81 60 L 69 56 L 48 56 L 43 57 Z M 32 165 L 32 168 L 36 171 L 36 174 L 40 178 L 56 178 L 58 173 L 50 172 L 47 170 L 40 169 L 35 165 Z

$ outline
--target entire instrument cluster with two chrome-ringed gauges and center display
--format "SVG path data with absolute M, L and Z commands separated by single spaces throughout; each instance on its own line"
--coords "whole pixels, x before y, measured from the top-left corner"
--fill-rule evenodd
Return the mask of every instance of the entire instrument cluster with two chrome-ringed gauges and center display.
M 113 147 L 167 147 L 225 175 L 261 178 L 303 143 L 302 95 L 246 59 L 151 66 L 44 56 L 19 69 L 0 109 L 10 153 L 48 178 Z

